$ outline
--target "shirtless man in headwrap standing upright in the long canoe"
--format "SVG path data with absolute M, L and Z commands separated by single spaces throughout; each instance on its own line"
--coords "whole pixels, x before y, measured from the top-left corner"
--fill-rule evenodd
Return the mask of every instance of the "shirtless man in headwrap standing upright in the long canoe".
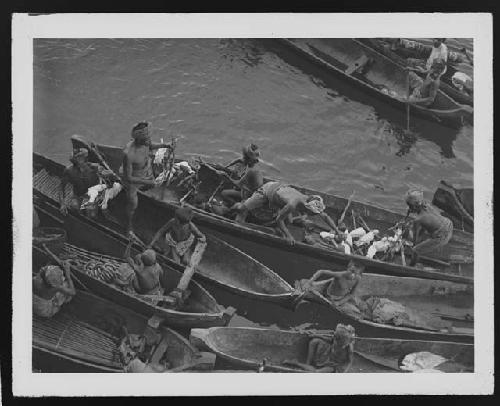
M 170 144 L 153 144 L 149 135 L 149 124 L 140 122 L 132 128 L 132 140 L 123 152 L 123 174 L 127 192 L 127 231 L 135 237 L 132 229 L 134 212 L 137 209 L 137 191 L 144 186 L 155 186 L 150 153 L 158 148 L 172 148 Z

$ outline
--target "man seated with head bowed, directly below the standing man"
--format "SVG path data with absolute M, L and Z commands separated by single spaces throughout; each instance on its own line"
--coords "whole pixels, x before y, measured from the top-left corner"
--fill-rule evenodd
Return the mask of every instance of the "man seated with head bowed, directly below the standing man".
M 189 264 L 195 238 L 206 242 L 205 236 L 192 223 L 192 218 L 193 211 L 190 207 L 177 209 L 175 217 L 157 231 L 148 247 L 153 247 L 160 237 L 163 237 L 164 241 L 160 244 L 163 253 L 179 264 L 181 260 L 185 265 Z

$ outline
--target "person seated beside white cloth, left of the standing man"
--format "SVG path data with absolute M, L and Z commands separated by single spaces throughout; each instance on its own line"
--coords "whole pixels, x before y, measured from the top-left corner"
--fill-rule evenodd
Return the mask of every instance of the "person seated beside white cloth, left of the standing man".
M 88 188 L 99 183 L 99 165 L 88 162 L 89 151 L 86 148 L 73 150 L 70 158 L 71 166 L 64 170 L 61 181 L 61 193 L 59 195 L 60 211 L 64 215 L 68 208 L 78 211 L 87 193 Z M 66 185 L 73 186 L 73 195 L 69 204 L 66 202 Z

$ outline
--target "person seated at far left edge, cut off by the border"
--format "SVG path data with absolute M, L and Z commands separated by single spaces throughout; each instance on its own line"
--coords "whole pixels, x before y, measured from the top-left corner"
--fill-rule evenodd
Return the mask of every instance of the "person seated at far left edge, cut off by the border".
M 55 265 L 47 265 L 33 277 L 33 313 L 52 317 L 76 294 L 68 262 L 64 272 Z

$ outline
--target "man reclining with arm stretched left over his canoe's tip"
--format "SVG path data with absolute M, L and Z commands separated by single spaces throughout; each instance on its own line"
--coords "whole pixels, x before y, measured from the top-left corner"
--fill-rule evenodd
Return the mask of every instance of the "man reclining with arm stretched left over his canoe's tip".
M 334 272 L 329 270 L 317 271 L 311 279 L 296 282 L 296 287 L 305 292 L 316 291 L 325 296 L 335 306 L 351 315 L 364 317 L 366 308 L 363 300 L 356 296 L 356 290 L 361 282 L 365 266 L 358 261 L 350 260 L 347 270 Z M 318 280 L 327 277 L 328 279 Z

